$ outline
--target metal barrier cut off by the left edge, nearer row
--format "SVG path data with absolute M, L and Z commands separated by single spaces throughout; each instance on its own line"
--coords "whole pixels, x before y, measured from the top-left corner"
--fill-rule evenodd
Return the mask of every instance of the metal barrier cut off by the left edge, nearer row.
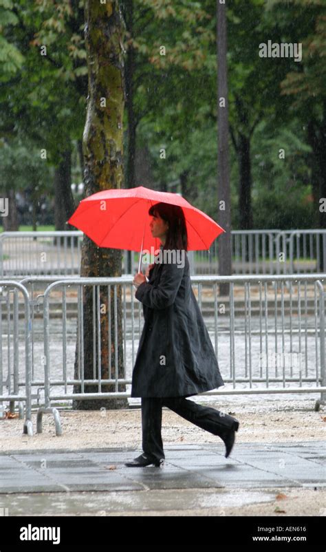
M 7 293 L 4 293 L 5 290 Z M 19 326 L 19 292 L 23 297 L 23 328 Z M 11 295 L 12 301 L 10 300 Z M 21 333 L 23 333 L 24 343 L 22 351 L 19 348 Z M 21 357 L 23 357 L 22 370 L 20 370 Z M 25 381 L 21 383 L 23 374 Z M 23 402 L 25 402 L 23 432 L 30 436 L 33 434 L 31 379 L 30 297 L 28 291 L 21 284 L 2 280 L 0 281 L 0 403 L 9 402 L 10 412 L 14 412 L 14 403 L 19 403 L 19 418 L 23 418 Z M 19 392 L 20 383 L 23 385 L 22 393 Z M 3 411 L 2 408 L 1 410 Z

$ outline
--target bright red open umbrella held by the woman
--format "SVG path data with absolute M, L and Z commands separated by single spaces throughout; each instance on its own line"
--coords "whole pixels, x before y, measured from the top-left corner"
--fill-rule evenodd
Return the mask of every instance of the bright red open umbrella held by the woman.
M 67 222 L 83 231 L 99 247 L 140 251 L 158 249 L 151 235 L 148 213 L 155 203 L 182 207 L 188 233 L 188 250 L 209 249 L 215 238 L 225 232 L 213 219 L 188 203 L 181 195 L 139 186 L 130 189 L 103 190 L 80 202 Z M 140 253 L 141 258 L 142 253 Z M 138 268 L 138 272 L 140 267 Z

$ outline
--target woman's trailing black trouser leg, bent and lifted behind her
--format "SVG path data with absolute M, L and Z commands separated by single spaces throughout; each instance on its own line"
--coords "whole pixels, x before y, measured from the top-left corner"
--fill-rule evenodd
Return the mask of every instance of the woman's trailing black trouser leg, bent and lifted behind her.
M 162 406 L 167 406 L 182 418 L 220 437 L 225 437 L 230 431 L 237 431 L 239 427 L 239 422 L 232 416 L 215 408 L 187 401 L 184 397 L 164 397 Z

